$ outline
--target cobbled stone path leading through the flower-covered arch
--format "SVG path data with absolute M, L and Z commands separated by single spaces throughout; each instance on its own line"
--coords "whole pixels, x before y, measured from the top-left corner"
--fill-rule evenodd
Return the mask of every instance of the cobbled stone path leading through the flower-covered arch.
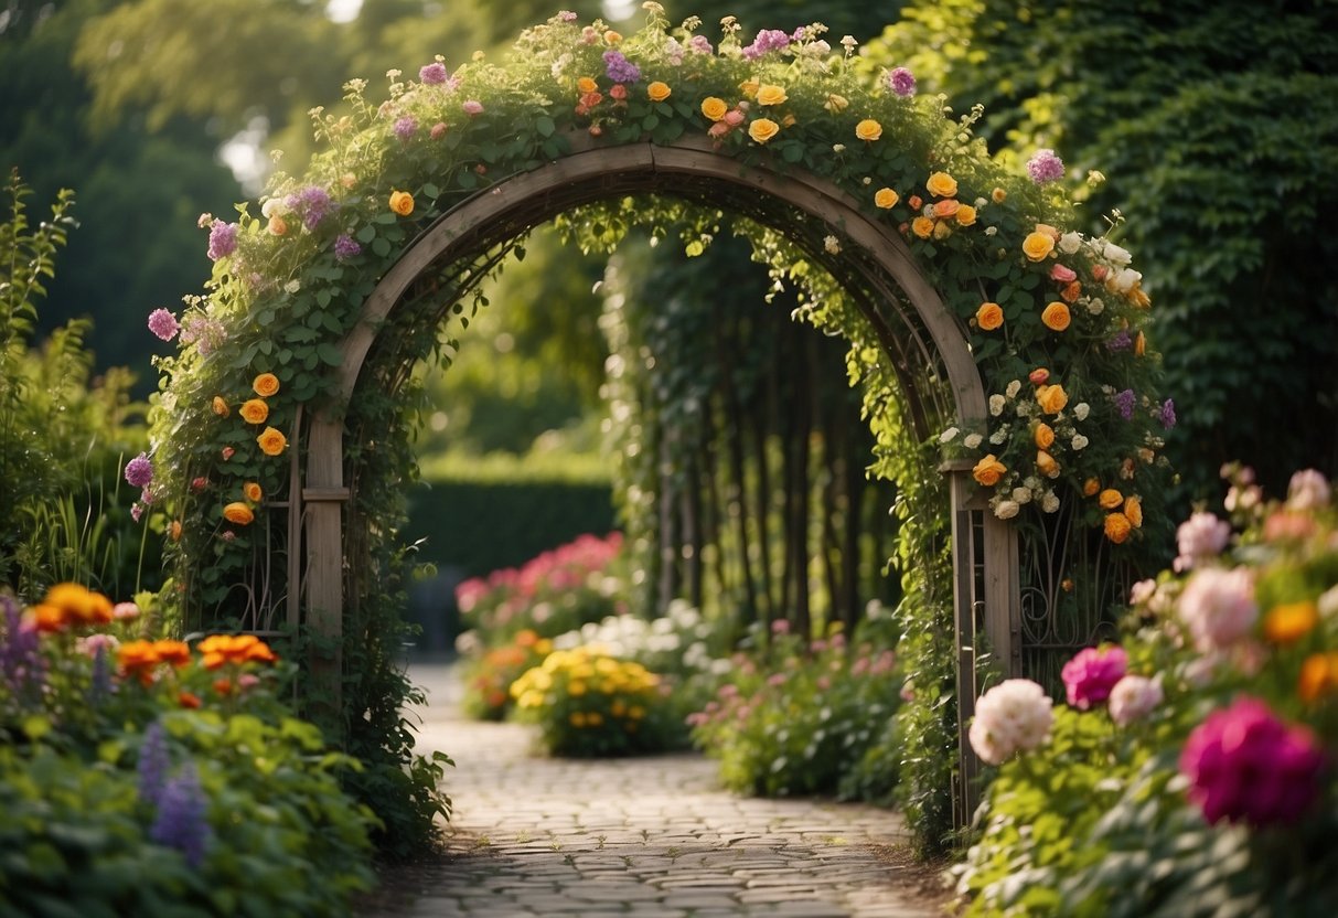
M 698 755 L 570 761 L 514 724 L 460 719 L 447 666 L 415 666 L 420 749 L 456 761 L 448 852 L 385 878 L 375 918 L 921 918 L 941 914 L 874 846 L 895 812 L 733 796 Z

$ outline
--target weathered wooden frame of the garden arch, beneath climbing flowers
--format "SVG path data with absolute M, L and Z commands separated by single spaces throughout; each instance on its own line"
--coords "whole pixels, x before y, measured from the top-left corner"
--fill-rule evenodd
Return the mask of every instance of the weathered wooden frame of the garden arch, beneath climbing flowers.
M 744 166 L 717 153 L 705 138 L 681 141 L 669 146 L 632 143 L 595 146 L 581 135 L 574 139 L 570 155 L 533 171 L 506 178 L 444 214 L 403 252 L 363 305 L 353 329 L 341 344 L 343 360 L 334 369 L 336 385 L 330 405 L 309 416 L 305 455 L 305 483 L 293 488 L 301 495 L 301 507 L 293 507 L 290 521 L 305 521 L 305 577 L 300 590 L 290 590 L 289 616 L 297 613 L 298 597 L 305 597 L 306 621 L 317 634 L 334 638 L 324 641 L 340 646 L 344 597 L 344 514 L 349 499 L 344 482 L 344 424 L 339 405 L 353 396 L 363 364 L 385 318 L 395 310 L 409 286 L 432 270 L 546 222 L 582 203 L 633 193 L 660 193 L 696 197 L 705 202 L 765 201 L 776 209 L 791 209 L 815 225 L 839 232 L 843 250 L 839 256 L 840 280 L 858 277 L 882 302 L 866 302 L 866 317 L 882 323 L 878 329 L 887 347 L 896 344 L 895 332 L 883 323 L 876 306 L 903 300 L 911 318 L 927 336 L 930 351 L 923 356 L 937 361 L 946 376 L 949 412 L 965 428 L 983 428 L 986 396 L 979 371 L 971 359 L 965 329 L 945 308 L 934 285 L 919 269 L 904 240 L 894 227 L 871 219 L 859 203 L 839 187 L 811 174 Z M 739 193 L 747 197 L 740 198 Z M 714 197 L 720 193 L 721 198 Z M 727 205 L 728 209 L 728 205 Z M 767 221 L 767 209 L 759 209 Z M 772 217 L 772 226 L 775 218 Z M 831 266 L 831 265 L 828 265 Z M 898 292 L 900 296 L 898 296 Z M 1016 530 L 987 513 L 970 476 L 970 463 L 946 463 L 941 471 L 949 476 L 953 513 L 954 608 L 958 648 L 959 717 L 965 725 L 973 713 L 977 696 L 974 685 L 977 629 L 983 628 L 991 653 L 1006 669 L 1018 672 L 1020 586 Z M 294 470 L 296 471 L 296 470 Z M 296 482 L 294 482 L 296 484 Z M 289 545 L 297 545 L 298 533 L 290 533 Z M 296 562 L 300 551 L 293 551 Z M 296 578 L 290 582 L 296 582 Z M 336 652 L 337 653 L 337 652 Z M 339 656 L 312 661 L 316 697 L 324 695 L 337 704 Z M 325 688 L 321 688 L 324 685 Z M 963 743 L 965 747 L 965 743 Z M 963 761 L 961 807 L 969 806 L 965 788 L 970 783 L 971 763 Z M 967 814 L 969 815 L 969 814 Z

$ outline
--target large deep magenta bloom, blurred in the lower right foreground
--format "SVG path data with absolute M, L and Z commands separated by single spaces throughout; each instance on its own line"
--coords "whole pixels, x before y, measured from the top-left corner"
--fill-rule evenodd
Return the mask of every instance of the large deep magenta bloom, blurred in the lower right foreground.
M 1240 697 L 1199 724 L 1180 751 L 1188 796 L 1210 823 L 1268 826 L 1305 815 L 1318 794 L 1325 757 L 1305 727 Z

